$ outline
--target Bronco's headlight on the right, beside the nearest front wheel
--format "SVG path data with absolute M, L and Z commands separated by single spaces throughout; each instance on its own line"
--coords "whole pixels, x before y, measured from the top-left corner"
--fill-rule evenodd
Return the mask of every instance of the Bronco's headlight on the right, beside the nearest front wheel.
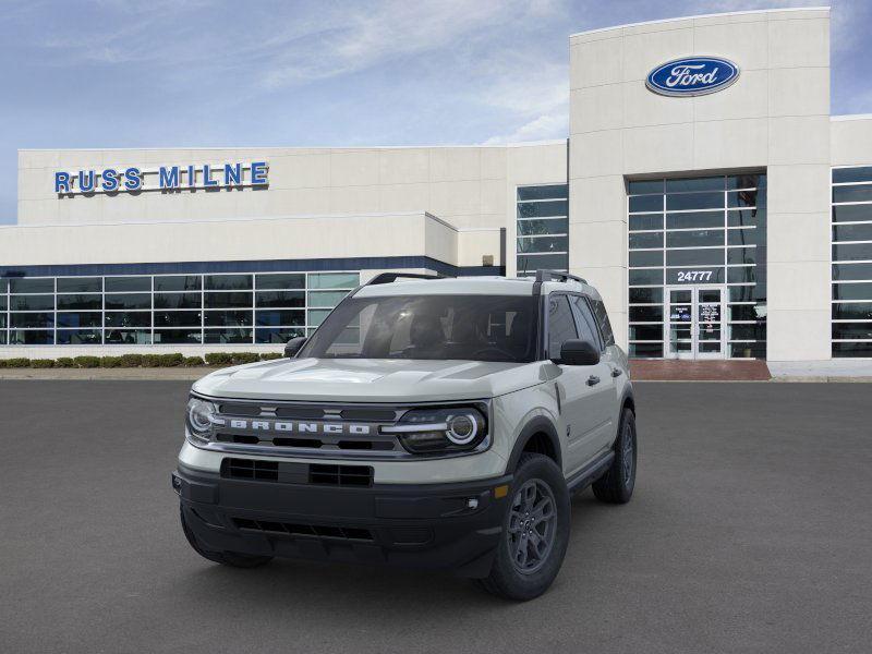
M 415 455 L 470 451 L 486 445 L 487 420 L 475 407 L 413 409 L 382 432 L 396 434 Z

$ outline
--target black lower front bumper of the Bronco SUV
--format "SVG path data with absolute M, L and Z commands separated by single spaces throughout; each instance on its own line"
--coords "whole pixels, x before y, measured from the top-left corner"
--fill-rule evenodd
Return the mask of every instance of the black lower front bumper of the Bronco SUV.
M 370 487 L 239 480 L 179 464 L 172 486 L 206 549 L 485 577 L 511 475 Z M 495 488 L 500 488 L 497 497 Z

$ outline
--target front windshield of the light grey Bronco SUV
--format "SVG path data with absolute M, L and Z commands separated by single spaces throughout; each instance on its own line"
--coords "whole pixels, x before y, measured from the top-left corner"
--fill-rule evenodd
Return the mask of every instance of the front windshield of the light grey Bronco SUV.
M 536 315 L 532 295 L 351 298 L 299 356 L 526 363 L 536 356 Z

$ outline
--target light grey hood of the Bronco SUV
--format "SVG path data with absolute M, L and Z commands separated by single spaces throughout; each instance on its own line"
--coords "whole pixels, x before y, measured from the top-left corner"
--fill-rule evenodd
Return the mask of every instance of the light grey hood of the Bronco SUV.
M 393 359 L 283 359 L 216 371 L 206 396 L 341 402 L 486 399 L 544 380 L 541 363 Z

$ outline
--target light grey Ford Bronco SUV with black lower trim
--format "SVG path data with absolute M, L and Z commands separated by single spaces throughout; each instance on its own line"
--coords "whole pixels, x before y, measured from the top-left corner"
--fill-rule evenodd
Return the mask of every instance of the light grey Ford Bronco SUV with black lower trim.
M 207 559 L 449 569 L 529 600 L 570 495 L 632 495 L 627 358 L 583 279 L 379 275 L 286 354 L 192 388 L 172 484 Z

